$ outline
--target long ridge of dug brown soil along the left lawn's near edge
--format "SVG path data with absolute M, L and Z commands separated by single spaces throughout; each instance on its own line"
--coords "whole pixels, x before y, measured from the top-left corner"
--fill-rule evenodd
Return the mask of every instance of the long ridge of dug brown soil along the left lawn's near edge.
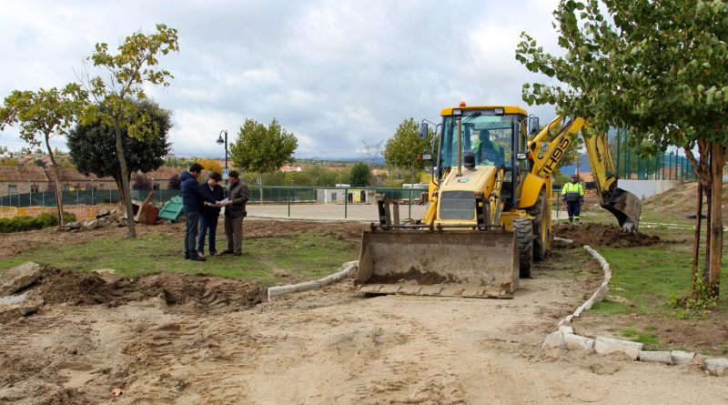
M 114 307 L 160 297 L 167 305 L 189 304 L 187 307 L 200 311 L 217 312 L 255 307 L 267 294 L 265 287 L 232 278 L 164 273 L 132 280 L 58 268 L 46 268 L 30 291 L 46 305 Z

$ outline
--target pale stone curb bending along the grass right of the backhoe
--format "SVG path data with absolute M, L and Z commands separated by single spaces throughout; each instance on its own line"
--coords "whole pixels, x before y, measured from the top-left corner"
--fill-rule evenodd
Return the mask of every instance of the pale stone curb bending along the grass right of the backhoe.
M 554 238 L 556 239 L 556 238 Z M 561 239 L 561 238 L 560 238 Z M 561 239 L 561 241 L 571 243 L 569 239 Z M 590 246 L 584 245 L 584 249 L 591 254 L 591 257 L 599 261 L 604 271 L 604 279 L 602 284 L 599 286 L 591 297 L 584 301 L 579 308 L 574 310 L 571 315 L 566 318 L 559 320 L 557 330 L 551 333 L 541 343 L 543 349 L 582 349 L 582 350 L 594 350 L 599 354 L 610 354 L 610 353 L 623 353 L 629 356 L 632 360 L 639 360 L 645 362 L 658 362 L 667 365 L 684 365 L 690 364 L 695 359 L 695 353 L 691 351 L 682 350 L 642 350 L 642 343 L 634 342 L 632 340 L 612 339 L 598 336 L 595 339 L 586 338 L 574 334 L 573 327 L 571 326 L 571 320 L 581 316 L 581 313 L 585 310 L 591 309 L 595 303 L 602 301 L 609 292 L 609 282 L 612 279 L 612 269 L 609 263 L 602 255 Z M 728 375 L 728 359 L 725 358 L 713 358 L 703 359 L 703 370 L 707 374 L 713 376 L 724 376 Z

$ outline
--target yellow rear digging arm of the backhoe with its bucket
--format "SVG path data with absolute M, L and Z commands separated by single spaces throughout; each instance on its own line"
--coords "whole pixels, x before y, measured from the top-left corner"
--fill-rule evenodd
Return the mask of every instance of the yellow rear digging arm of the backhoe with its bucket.
M 640 199 L 629 191 L 617 187 L 616 170 L 606 135 L 601 133 L 590 136 L 587 121 L 582 117 L 577 117 L 563 124 L 556 136 L 550 139 L 551 131 L 558 127 L 563 120 L 563 116 L 556 116 L 548 126 L 529 141 L 531 174 L 538 177 L 550 177 L 559 166 L 574 137 L 581 131 L 591 166 L 591 174 L 601 199 L 600 206 L 617 218 L 622 230 L 636 231 L 642 209 Z

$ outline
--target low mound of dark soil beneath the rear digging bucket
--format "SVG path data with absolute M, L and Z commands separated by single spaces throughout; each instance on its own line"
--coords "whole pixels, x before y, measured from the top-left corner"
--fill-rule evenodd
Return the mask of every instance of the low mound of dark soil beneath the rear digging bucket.
M 624 233 L 620 228 L 602 224 L 557 225 L 553 228 L 553 235 L 559 238 L 571 239 L 573 243 L 566 248 L 581 248 L 584 245 L 591 247 L 611 248 L 638 248 L 663 243 L 657 236 L 643 233 Z

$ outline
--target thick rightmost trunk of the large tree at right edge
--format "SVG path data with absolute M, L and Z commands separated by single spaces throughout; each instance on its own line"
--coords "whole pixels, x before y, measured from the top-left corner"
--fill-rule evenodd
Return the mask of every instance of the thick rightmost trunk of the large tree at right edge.
M 721 283 L 721 258 L 723 258 L 723 210 L 721 197 L 723 196 L 723 146 L 713 142 L 711 152 L 711 174 L 713 175 L 713 189 L 711 190 L 711 221 L 710 221 L 710 280 L 711 292 L 717 298 Z

